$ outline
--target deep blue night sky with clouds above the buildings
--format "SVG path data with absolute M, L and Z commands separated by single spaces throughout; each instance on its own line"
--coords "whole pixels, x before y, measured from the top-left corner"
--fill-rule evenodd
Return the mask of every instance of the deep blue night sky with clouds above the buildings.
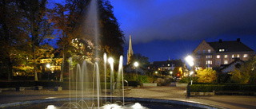
M 61 1 L 61 0 L 60 0 Z M 56 2 L 56 1 L 55 1 Z M 236 41 L 256 51 L 256 0 L 110 0 L 134 53 L 150 62 L 182 59 L 205 39 Z

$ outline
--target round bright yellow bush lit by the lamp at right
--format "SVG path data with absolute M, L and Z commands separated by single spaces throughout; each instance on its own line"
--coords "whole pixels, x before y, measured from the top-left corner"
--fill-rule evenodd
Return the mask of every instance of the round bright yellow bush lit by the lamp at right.
M 199 69 L 197 71 L 198 82 L 212 83 L 217 79 L 216 71 L 211 68 Z

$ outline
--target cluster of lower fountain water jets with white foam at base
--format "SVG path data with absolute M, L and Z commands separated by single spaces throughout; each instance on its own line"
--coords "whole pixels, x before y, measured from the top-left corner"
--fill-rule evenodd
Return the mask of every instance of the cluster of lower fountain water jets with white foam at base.
M 69 79 L 69 90 L 70 94 L 71 91 L 74 91 L 75 97 L 72 98 L 70 95 L 69 102 L 64 103 L 60 109 L 66 109 L 66 108 L 127 108 L 125 106 L 125 99 L 124 99 L 124 83 L 123 83 L 123 69 L 122 69 L 122 59 L 123 57 L 120 56 L 119 59 L 119 65 L 118 65 L 118 78 L 114 84 L 114 60 L 113 58 L 108 58 L 108 63 L 110 64 L 110 95 L 107 96 L 106 91 L 108 90 L 106 88 L 106 66 L 107 66 L 107 56 L 106 53 L 104 53 L 103 56 L 104 59 L 104 91 L 105 95 L 102 95 L 102 89 L 101 89 L 101 79 L 100 79 L 100 72 L 98 68 L 98 63 L 95 62 L 94 64 L 94 70 L 93 70 L 93 78 L 90 81 L 88 76 L 91 76 L 88 72 L 87 66 L 86 66 L 86 60 L 83 61 L 82 65 L 77 64 L 75 68 L 72 66 L 72 59 L 70 58 L 70 79 Z M 76 72 L 74 72 L 74 69 L 76 69 Z M 87 78 L 86 78 L 87 77 Z M 85 79 L 86 78 L 86 79 Z M 73 81 L 75 81 L 73 83 Z M 88 84 L 91 83 L 91 84 Z M 80 84 L 80 87 L 78 86 Z M 122 86 L 120 86 L 122 84 Z M 117 87 L 115 87 L 115 85 Z M 75 86 L 72 88 L 72 86 Z M 115 101 L 112 99 L 114 98 L 113 91 L 114 88 L 116 88 L 118 91 L 121 91 L 122 93 L 122 99 Z M 84 97 L 84 92 L 91 93 L 91 97 Z M 96 94 L 94 94 L 96 92 Z M 94 96 L 96 95 L 96 96 Z M 86 99 L 86 100 L 85 100 Z M 102 100 L 104 99 L 104 101 Z M 89 101 L 89 102 L 88 102 Z M 130 103 L 128 103 L 130 104 Z M 52 105 L 50 105 L 52 107 Z M 49 107 L 49 108 L 50 108 Z M 47 107 L 48 108 L 48 107 Z M 146 108 L 142 107 L 140 103 L 134 103 L 134 105 L 129 105 L 129 108 Z

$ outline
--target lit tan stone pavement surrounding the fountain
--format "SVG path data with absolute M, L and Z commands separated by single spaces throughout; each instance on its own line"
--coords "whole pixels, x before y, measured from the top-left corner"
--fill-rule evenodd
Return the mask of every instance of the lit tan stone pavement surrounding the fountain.
M 143 87 L 132 88 L 126 91 L 125 97 L 151 98 L 151 99 L 174 99 L 190 101 L 197 103 L 206 103 L 218 107 L 231 109 L 256 108 L 256 96 L 244 95 L 209 95 L 209 96 L 191 96 L 189 99 L 183 95 L 185 88 L 177 88 L 173 84 L 161 87 Z M 54 91 L 53 89 L 44 88 L 43 90 L 26 90 L 26 91 L 2 91 L 0 93 L 0 103 L 13 103 L 18 101 L 27 101 L 34 99 L 57 99 L 74 97 L 74 93 L 69 90 Z M 86 93 L 85 96 L 91 93 Z

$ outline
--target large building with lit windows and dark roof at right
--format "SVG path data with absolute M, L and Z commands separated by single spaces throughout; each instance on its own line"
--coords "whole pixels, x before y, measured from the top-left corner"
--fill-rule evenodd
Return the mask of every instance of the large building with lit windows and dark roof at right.
M 195 58 L 195 70 L 198 68 L 220 67 L 222 64 L 230 64 L 235 59 L 246 61 L 254 55 L 254 50 L 244 45 L 240 38 L 237 41 L 206 42 L 203 40 L 192 55 Z

